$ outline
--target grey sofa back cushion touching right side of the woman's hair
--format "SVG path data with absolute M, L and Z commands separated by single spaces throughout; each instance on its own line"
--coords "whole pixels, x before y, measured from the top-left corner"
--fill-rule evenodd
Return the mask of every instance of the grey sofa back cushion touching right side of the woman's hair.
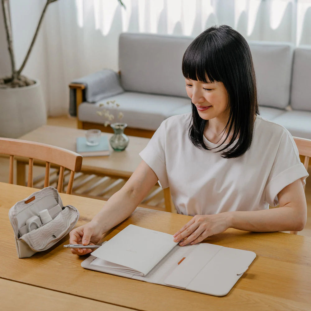
M 248 42 L 258 92 L 258 104 L 284 109 L 290 100 L 293 46 L 272 42 Z

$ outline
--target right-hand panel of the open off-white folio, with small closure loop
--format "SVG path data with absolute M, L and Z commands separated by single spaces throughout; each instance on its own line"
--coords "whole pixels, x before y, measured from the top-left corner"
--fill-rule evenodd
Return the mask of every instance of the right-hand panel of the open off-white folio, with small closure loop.
M 174 269 L 165 284 L 224 296 L 255 258 L 254 252 L 202 243 Z

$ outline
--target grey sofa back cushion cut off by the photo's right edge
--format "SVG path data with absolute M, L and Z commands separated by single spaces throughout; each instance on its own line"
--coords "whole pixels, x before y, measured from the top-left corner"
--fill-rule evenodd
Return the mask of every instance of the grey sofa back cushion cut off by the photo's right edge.
M 311 111 L 310 48 L 295 49 L 290 105 L 293 109 Z

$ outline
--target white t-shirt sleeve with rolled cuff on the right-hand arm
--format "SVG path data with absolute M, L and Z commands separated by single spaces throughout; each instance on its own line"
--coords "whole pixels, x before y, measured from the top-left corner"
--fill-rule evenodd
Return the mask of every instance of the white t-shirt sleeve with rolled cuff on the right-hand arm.
M 266 201 L 271 206 L 279 204 L 277 194 L 294 181 L 301 179 L 303 186 L 309 176 L 300 162 L 299 152 L 293 137 L 286 130 L 283 132 L 276 152 L 266 186 Z

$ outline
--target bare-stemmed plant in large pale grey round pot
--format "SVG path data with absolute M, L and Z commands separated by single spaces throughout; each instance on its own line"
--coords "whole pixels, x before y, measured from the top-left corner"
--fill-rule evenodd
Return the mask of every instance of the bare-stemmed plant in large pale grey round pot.
M 46 123 L 46 108 L 40 82 L 21 73 L 35 44 L 46 9 L 55 1 L 57 0 L 46 1 L 25 59 L 21 67 L 16 68 L 9 1 L 1 0 L 11 75 L 0 78 L 0 136 L 17 138 Z

